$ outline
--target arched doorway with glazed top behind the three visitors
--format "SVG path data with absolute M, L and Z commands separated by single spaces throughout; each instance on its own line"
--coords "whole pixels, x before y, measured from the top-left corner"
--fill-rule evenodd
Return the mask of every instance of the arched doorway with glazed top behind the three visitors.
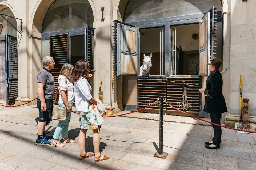
M 42 57 L 54 58 L 56 82 L 64 63 L 75 65 L 82 58 L 89 61 L 93 73 L 93 22 L 88 0 L 56 0 L 48 9 L 42 24 Z

